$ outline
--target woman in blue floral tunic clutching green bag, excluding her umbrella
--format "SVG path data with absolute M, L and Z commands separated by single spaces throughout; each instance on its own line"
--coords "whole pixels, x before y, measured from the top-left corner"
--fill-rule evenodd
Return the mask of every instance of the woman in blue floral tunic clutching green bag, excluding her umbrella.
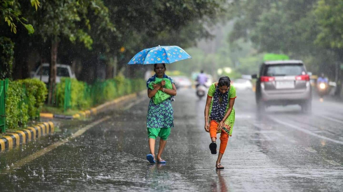
M 170 135 L 170 127 L 174 127 L 173 106 L 171 105 L 171 101 L 174 100 L 174 96 L 176 95 L 176 87 L 173 79 L 165 74 L 165 64 L 154 64 L 154 71 L 156 74 L 146 82 L 148 97 L 151 98 L 146 121 L 151 154 L 146 155 L 146 159 L 150 163 L 155 163 L 156 160 L 158 163 L 166 163 L 161 155 L 166 146 L 167 138 Z M 158 79 L 160 82 L 156 83 L 158 82 Z M 163 80 L 161 81 L 161 79 Z M 164 97 L 171 97 L 156 104 L 156 101 L 161 99 L 154 98 L 157 94 L 161 97 L 162 95 Z M 157 157 L 155 158 L 155 139 L 157 136 L 160 137 L 160 140 Z

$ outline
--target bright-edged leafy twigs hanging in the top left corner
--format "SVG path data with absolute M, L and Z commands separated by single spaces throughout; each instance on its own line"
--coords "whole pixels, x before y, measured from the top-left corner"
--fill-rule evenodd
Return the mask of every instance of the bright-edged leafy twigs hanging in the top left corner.
M 38 0 L 30 0 L 31 6 L 34 6 L 36 11 L 40 7 L 40 2 Z M 11 28 L 11 32 L 17 33 L 17 26 L 15 22 L 21 23 L 28 31 L 28 34 L 34 33 L 34 29 L 31 24 L 25 24 L 27 20 L 21 17 L 21 3 L 16 0 L 0 0 L 0 20 L 5 21 L 5 23 Z M 0 22 L 1 24 L 1 22 Z

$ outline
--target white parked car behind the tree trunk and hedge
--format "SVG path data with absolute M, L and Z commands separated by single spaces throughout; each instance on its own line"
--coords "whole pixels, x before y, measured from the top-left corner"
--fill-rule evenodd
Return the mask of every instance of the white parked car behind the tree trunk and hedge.
M 59 83 L 61 81 L 61 77 L 70 77 L 75 78 L 75 74 L 72 72 L 71 67 L 69 65 L 62 65 L 62 64 L 56 64 L 57 67 L 57 76 L 56 76 L 56 83 Z M 40 66 L 35 71 L 33 78 L 40 79 L 40 74 L 42 74 L 42 81 L 44 83 L 49 82 L 49 64 L 44 63 L 42 64 L 42 71 L 40 71 Z

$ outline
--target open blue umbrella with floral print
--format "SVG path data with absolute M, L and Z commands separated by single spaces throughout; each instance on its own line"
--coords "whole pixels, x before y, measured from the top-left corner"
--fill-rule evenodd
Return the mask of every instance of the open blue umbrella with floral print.
M 138 52 L 128 64 L 157 64 L 174 63 L 183 59 L 192 58 L 179 46 L 160 46 L 144 49 Z

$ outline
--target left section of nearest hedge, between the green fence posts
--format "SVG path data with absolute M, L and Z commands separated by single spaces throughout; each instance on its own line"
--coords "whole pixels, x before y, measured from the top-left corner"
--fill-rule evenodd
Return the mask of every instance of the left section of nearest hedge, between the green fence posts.
M 6 127 L 17 129 L 26 126 L 29 115 L 28 105 L 22 102 L 25 97 L 22 84 L 17 81 L 10 81 L 6 96 Z

